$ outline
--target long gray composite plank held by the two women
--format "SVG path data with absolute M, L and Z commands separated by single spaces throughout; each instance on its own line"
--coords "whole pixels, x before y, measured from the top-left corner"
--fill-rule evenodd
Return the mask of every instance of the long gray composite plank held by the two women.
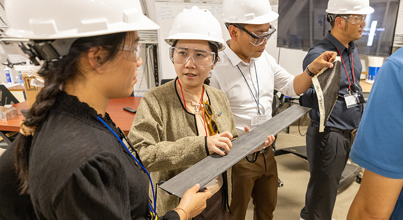
M 227 155 L 212 154 L 182 173 L 172 177 L 159 187 L 172 195 L 182 198 L 185 191 L 194 184 L 199 183 L 200 186 L 206 185 L 215 176 L 224 173 L 228 168 L 262 145 L 267 140 L 268 135 L 276 135 L 281 132 L 309 110 L 311 109 L 294 105 L 282 111 L 254 130 L 234 140 L 233 147 Z

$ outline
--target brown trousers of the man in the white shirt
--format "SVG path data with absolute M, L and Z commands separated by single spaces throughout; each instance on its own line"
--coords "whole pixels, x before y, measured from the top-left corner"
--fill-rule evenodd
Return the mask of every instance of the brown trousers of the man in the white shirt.
M 277 202 L 277 164 L 272 147 L 258 154 L 254 163 L 235 164 L 232 169 L 233 195 L 229 220 L 245 220 L 252 196 L 254 220 L 272 220 Z

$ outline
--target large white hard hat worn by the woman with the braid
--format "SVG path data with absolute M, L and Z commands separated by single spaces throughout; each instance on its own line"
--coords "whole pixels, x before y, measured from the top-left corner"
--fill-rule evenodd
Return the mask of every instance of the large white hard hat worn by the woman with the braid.
M 6 34 L 27 39 L 63 39 L 158 29 L 139 0 L 5 0 Z

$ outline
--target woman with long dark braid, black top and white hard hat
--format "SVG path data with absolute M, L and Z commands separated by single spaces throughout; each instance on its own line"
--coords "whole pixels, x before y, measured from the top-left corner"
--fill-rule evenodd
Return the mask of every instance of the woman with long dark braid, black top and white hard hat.
M 46 60 L 39 72 L 45 86 L 14 143 L 21 192 L 30 195 L 38 219 L 156 219 L 147 171 L 106 106 L 133 91 L 142 64 L 138 30 L 158 25 L 142 14 L 138 0 L 5 5 L 7 34 L 35 39 L 31 47 Z M 198 190 L 188 190 L 176 211 L 159 219 L 196 216 L 211 196 Z

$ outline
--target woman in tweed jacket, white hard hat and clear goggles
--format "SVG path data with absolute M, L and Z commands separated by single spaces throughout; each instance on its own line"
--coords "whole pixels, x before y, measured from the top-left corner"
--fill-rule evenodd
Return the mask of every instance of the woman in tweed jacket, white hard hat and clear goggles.
M 165 41 L 171 45 L 177 78 L 144 95 L 128 135 L 137 143 L 134 147 L 154 183 L 169 180 L 210 154 L 225 155 L 238 136 L 228 99 L 205 84 L 219 61 L 218 51 L 225 48 L 219 22 L 206 9 L 184 9 L 175 17 Z M 268 137 L 266 145 L 272 138 Z M 204 189 L 212 192 L 212 198 L 193 220 L 226 219 L 231 170 Z M 164 212 L 178 204 L 176 196 L 157 191 L 157 210 Z

